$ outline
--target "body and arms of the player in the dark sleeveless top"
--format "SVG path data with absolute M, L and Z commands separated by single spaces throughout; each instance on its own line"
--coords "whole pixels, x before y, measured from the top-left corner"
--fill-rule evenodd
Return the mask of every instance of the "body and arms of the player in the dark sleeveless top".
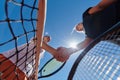
M 83 27 L 86 39 L 77 45 L 77 49 L 59 47 L 58 61 L 65 61 L 68 57 L 89 45 L 89 43 L 120 21 L 120 0 L 102 0 L 96 6 L 88 8 L 83 13 Z M 77 25 L 80 26 L 80 25 Z M 81 30 L 81 29 L 80 29 Z

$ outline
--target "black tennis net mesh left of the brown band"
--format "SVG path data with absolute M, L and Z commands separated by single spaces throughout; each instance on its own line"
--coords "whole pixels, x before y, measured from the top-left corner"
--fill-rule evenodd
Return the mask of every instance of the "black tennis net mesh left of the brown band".
M 38 1 L 0 1 L 0 80 L 33 80 Z

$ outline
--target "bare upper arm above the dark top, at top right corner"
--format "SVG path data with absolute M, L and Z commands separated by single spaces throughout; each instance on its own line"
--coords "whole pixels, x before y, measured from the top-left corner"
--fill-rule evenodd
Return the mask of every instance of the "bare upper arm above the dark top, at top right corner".
M 98 3 L 96 6 L 91 8 L 88 13 L 89 14 L 94 14 L 96 12 L 102 11 L 111 4 L 115 3 L 117 0 L 102 0 L 100 3 Z

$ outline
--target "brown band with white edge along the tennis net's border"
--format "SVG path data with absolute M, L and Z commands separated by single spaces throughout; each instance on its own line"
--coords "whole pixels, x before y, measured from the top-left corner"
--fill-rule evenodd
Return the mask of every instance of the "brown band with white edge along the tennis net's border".
M 40 59 L 40 48 L 42 46 L 42 38 L 43 38 L 43 33 L 44 33 L 44 26 L 45 26 L 45 20 L 46 20 L 46 4 L 47 0 L 40 0 L 39 2 L 39 10 L 38 10 L 38 21 L 37 21 L 37 53 L 36 53 L 36 76 L 35 79 L 38 79 L 38 66 L 39 66 L 39 59 Z

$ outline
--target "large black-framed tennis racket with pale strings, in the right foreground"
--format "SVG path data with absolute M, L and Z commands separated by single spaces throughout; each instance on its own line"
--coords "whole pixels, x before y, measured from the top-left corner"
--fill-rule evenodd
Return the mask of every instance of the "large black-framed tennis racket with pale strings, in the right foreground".
M 120 22 L 80 54 L 68 80 L 120 80 Z

